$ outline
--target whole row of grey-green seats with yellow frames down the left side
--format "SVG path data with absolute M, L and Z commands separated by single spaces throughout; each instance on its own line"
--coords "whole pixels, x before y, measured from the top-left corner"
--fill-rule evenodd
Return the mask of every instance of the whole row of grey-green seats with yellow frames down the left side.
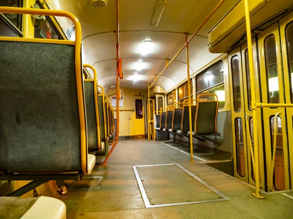
M 0 12 L 64 16 L 75 25 L 75 41 L 0 37 L 0 181 L 33 181 L 10 194 L 17 196 L 90 174 L 96 156 L 107 155 L 114 110 L 96 73 L 83 78 L 78 19 L 44 9 Z

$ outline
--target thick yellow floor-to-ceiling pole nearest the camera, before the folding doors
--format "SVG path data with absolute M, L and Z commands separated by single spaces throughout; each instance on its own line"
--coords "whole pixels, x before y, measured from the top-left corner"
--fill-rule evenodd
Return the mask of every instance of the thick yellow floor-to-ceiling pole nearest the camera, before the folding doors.
M 248 0 L 244 0 L 245 19 L 246 19 L 246 32 L 248 44 L 248 57 L 249 57 L 249 70 L 251 80 L 251 110 L 252 110 L 252 126 L 253 126 L 253 142 L 254 142 L 254 165 L 255 165 L 255 193 L 251 195 L 264 199 L 260 194 L 260 175 L 259 175 L 259 146 L 258 146 L 258 132 L 257 132 L 257 114 L 256 114 L 256 96 L 255 96 L 255 82 L 254 82 L 254 68 L 253 68 L 253 53 L 252 53 L 252 40 L 251 40 L 251 24 Z M 249 133 L 248 133 L 249 134 Z

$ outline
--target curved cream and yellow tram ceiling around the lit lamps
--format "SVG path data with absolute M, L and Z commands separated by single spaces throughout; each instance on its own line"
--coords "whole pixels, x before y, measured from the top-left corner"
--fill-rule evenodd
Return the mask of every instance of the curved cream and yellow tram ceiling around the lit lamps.
M 120 57 L 124 79 L 121 87 L 146 89 L 184 45 L 183 33 L 192 34 L 220 0 L 168 0 L 158 27 L 150 21 L 157 0 L 120 0 Z M 193 73 L 217 57 L 208 51 L 208 32 L 239 0 L 226 0 L 189 44 L 189 67 Z M 108 87 L 116 83 L 116 0 L 108 0 L 103 8 L 93 8 L 88 0 L 48 0 L 52 9 L 73 13 L 80 19 L 83 32 L 84 63 L 93 65 L 98 83 Z M 190 37 L 191 35 L 189 35 Z M 145 40 L 151 40 L 151 52 L 141 55 Z M 138 60 L 144 69 L 133 81 Z M 186 51 L 175 59 L 155 85 L 166 91 L 187 78 Z

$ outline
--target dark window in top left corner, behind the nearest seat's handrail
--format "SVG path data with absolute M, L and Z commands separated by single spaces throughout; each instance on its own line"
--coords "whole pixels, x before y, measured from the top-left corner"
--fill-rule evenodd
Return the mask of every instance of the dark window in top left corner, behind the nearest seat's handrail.
M 22 7 L 22 0 L 0 0 L 0 7 Z M 21 31 L 21 18 L 20 14 L 3 13 L 3 16 L 11 21 Z

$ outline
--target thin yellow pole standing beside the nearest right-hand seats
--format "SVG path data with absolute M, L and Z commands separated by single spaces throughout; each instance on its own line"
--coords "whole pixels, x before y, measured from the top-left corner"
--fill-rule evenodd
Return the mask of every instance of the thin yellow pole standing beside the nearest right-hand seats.
M 188 86 L 188 112 L 189 112 L 189 131 L 190 131 L 190 163 L 193 163 L 193 136 L 191 120 L 191 94 L 190 94 L 190 73 L 189 73 L 189 43 L 187 43 L 187 34 L 185 35 L 186 59 L 187 59 L 187 86 Z M 167 61 L 167 60 L 166 60 Z

